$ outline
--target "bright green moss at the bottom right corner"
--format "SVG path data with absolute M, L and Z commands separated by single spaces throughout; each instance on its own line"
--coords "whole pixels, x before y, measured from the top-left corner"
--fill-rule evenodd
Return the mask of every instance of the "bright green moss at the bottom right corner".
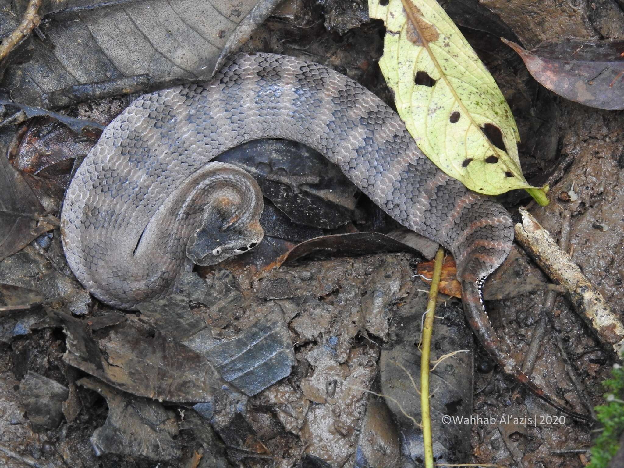
M 603 382 L 607 389 L 607 404 L 596 407 L 598 421 L 603 431 L 592 447 L 592 461 L 586 468 L 606 468 L 620 447 L 619 439 L 624 432 L 624 368 L 613 366 L 612 378 Z

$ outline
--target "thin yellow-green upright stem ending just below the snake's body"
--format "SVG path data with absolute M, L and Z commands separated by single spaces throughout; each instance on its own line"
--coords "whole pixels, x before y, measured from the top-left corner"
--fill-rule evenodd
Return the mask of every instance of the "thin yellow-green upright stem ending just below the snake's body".
M 444 249 L 440 247 L 436 253 L 429 300 L 422 328 L 421 350 L 421 416 L 422 438 L 425 446 L 425 468 L 433 468 L 433 442 L 431 438 L 431 414 L 429 411 L 429 355 L 431 354 L 431 334 L 433 333 L 433 319 L 436 311 L 437 290 L 442 275 L 442 263 L 444 263 Z

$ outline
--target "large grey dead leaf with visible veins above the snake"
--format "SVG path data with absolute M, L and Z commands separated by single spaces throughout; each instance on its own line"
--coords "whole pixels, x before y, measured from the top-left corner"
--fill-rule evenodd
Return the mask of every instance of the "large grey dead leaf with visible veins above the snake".
M 62 7 L 47 6 L 46 39 L 31 37 L 28 50 L 20 52 L 29 60 L 10 67 L 2 82 L 12 99 L 42 105 L 46 92 L 140 74 L 149 74 L 152 82 L 208 79 L 223 48 L 244 40 L 277 1 L 106 3 L 69 0 Z M 12 2 L 1 4 L 8 11 Z M 0 16 L 6 21 L 19 16 L 12 13 Z

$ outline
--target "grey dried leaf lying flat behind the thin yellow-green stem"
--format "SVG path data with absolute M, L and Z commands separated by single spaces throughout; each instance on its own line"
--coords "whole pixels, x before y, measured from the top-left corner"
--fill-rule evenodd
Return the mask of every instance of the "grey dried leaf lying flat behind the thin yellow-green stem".
M 408 314 L 394 319 L 397 323 L 396 344 L 393 348 L 383 349 L 379 360 L 381 393 L 394 399 L 386 399 L 386 402 L 399 422 L 401 453 L 413 462 L 424 459 L 422 431 L 404 416 L 396 401 L 409 416 L 421 420 L 421 397 L 401 366 L 419 386 L 421 354 L 416 344 L 426 303 L 425 293 L 411 293 L 404 308 Z M 434 326 L 431 359 L 459 349 L 470 349 L 470 353 L 458 353 L 448 358 L 429 374 L 431 391 L 435 393 L 430 399 L 434 457 L 439 463 L 466 463 L 470 456 L 470 424 L 444 424 L 442 416 L 470 417 L 472 414 L 474 343 L 461 307 L 449 305 L 444 311 L 437 310 L 436 316 L 439 315 L 444 315 L 444 320 L 436 321 Z

